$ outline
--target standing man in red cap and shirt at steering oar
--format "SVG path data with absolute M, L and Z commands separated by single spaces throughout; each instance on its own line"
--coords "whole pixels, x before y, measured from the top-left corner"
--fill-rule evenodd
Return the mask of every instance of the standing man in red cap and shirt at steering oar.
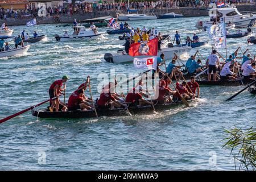
M 49 87 L 49 97 L 52 99 L 53 97 L 59 97 L 60 94 L 63 94 L 61 91 L 64 91 L 66 89 L 66 85 L 64 85 L 64 88 L 61 88 L 63 86 L 63 82 L 68 81 L 68 76 L 64 75 L 61 80 L 54 81 L 51 86 Z M 59 98 L 55 98 L 50 102 L 50 111 L 53 111 L 53 107 L 55 106 L 55 111 L 59 111 L 59 105 L 60 100 Z M 61 104 L 63 105 L 63 104 Z

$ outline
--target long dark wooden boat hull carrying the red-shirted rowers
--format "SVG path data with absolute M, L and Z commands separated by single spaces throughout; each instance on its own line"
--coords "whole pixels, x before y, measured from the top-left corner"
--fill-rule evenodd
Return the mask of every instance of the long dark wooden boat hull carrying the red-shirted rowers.
M 187 102 L 192 102 L 195 100 L 188 100 Z M 171 104 L 155 104 L 155 110 L 156 111 L 163 111 L 164 109 L 169 109 L 174 106 L 183 105 L 182 101 L 176 101 L 172 102 Z M 98 116 L 106 116 L 106 117 L 113 117 L 113 116 L 122 116 L 122 115 L 130 115 L 131 114 L 143 114 L 143 113 L 152 113 L 153 108 L 151 105 L 146 106 L 130 106 L 127 109 L 98 109 L 96 106 L 96 110 L 98 113 Z M 67 112 L 50 112 L 48 109 L 43 110 L 32 110 L 32 115 L 39 118 L 92 118 L 96 117 L 94 110 L 88 110 L 88 111 L 81 111 L 81 110 L 75 110 L 75 111 L 67 111 Z

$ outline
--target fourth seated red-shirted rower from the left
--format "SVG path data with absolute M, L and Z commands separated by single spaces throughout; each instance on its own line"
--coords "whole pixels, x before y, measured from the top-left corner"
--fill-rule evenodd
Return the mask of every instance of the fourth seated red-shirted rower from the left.
M 167 73 L 165 74 L 167 76 Z M 167 104 L 172 102 L 171 95 L 176 94 L 176 91 L 172 91 L 166 85 L 166 81 L 164 81 L 164 76 L 159 80 L 158 86 L 156 86 L 155 96 L 158 96 L 156 100 L 159 104 Z

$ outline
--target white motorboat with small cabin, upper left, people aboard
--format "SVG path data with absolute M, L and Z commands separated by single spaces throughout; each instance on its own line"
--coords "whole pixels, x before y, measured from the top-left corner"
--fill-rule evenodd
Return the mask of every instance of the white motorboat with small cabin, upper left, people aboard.
M 98 31 L 86 30 L 84 26 L 76 26 L 77 31 L 74 31 L 71 36 L 60 36 L 55 35 L 57 41 L 69 41 L 69 40 L 88 40 L 88 39 L 97 39 L 102 36 L 102 33 Z

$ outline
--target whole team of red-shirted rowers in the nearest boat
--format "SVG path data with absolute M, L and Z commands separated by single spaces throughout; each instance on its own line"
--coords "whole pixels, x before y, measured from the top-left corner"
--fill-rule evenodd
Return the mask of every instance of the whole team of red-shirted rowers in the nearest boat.
M 155 87 L 155 98 L 154 100 L 148 100 L 150 94 L 148 90 L 144 90 L 143 86 L 147 84 L 143 82 L 142 79 L 134 86 L 134 88 L 129 90 L 127 96 L 123 93 L 115 93 L 115 87 L 117 86 L 117 81 L 109 82 L 102 88 L 100 98 L 96 100 L 97 106 L 92 103 L 92 98 L 85 96 L 85 90 L 89 86 L 88 76 L 85 83 L 82 83 L 72 94 L 69 96 L 68 104 L 61 102 L 59 96 L 64 94 L 63 91 L 66 89 L 64 84 L 69 79 L 68 76 L 63 76 L 61 80 L 54 81 L 49 87 L 49 97 L 52 99 L 50 103 L 50 111 L 73 111 L 81 109 L 82 111 L 92 110 L 95 107 L 98 109 L 115 109 L 115 108 L 126 108 L 128 106 L 142 106 L 142 105 L 152 105 L 156 101 L 158 104 L 171 104 L 172 102 L 177 102 L 183 97 L 186 100 L 191 98 L 199 97 L 200 88 L 199 84 L 195 81 L 195 77 L 191 77 L 189 82 L 179 82 L 180 78 L 177 78 L 175 89 L 170 88 L 172 81 L 168 77 L 168 73 L 164 73 L 162 78 L 158 81 L 158 85 Z M 147 86 L 146 86 L 147 88 Z M 197 92 L 197 95 L 196 95 Z

